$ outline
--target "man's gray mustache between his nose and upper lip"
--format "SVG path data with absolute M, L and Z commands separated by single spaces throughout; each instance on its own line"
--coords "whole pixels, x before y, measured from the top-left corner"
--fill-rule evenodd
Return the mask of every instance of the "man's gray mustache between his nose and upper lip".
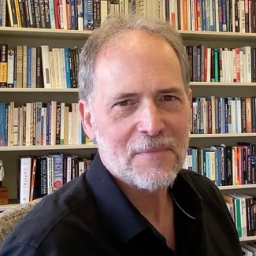
M 174 152 L 180 148 L 177 140 L 171 136 L 160 134 L 154 137 L 143 135 L 136 139 L 135 142 L 129 143 L 127 146 L 128 154 L 135 154 L 143 150 L 151 150 L 154 148 L 167 147 Z

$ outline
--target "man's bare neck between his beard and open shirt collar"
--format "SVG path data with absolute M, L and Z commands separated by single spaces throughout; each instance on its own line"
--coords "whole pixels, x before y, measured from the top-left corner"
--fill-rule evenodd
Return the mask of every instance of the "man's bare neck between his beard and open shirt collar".
M 157 191 L 145 191 L 125 184 L 117 180 L 121 190 L 132 202 L 132 204 L 143 214 L 144 217 L 155 226 L 161 226 L 173 215 L 173 201 L 168 194 L 167 188 L 160 188 Z

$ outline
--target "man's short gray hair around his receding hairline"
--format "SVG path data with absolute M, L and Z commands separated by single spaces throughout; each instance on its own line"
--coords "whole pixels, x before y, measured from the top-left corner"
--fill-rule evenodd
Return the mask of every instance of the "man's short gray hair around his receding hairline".
M 104 23 L 91 33 L 89 39 L 83 46 L 80 54 L 80 67 L 78 74 L 79 98 L 87 99 L 91 102 L 91 95 L 95 87 L 94 65 L 95 58 L 102 46 L 109 43 L 110 40 L 121 35 L 128 30 L 137 30 L 146 32 L 149 35 L 155 35 L 164 38 L 175 50 L 180 61 L 181 72 L 185 88 L 189 88 L 190 65 L 184 43 L 179 32 L 177 32 L 169 23 L 156 20 L 153 17 L 142 17 L 138 15 L 108 17 Z

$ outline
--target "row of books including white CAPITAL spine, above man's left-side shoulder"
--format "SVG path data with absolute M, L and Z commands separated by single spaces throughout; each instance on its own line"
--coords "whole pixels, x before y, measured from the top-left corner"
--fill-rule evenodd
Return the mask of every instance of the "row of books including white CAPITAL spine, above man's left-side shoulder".
M 69 154 L 20 156 L 17 174 L 19 202 L 29 202 L 53 193 L 88 169 L 94 157 L 95 154 L 90 158 Z

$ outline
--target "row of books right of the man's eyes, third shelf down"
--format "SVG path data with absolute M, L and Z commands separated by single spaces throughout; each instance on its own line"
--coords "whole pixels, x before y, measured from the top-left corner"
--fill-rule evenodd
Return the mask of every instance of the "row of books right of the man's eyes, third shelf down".
M 192 99 L 191 134 L 256 132 L 256 97 Z

